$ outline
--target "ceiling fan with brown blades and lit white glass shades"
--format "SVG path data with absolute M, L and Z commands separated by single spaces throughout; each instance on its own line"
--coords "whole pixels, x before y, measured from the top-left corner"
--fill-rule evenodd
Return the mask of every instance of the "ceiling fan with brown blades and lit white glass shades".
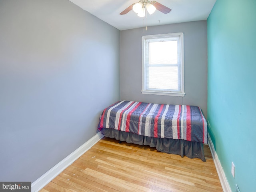
M 156 9 L 164 14 L 167 14 L 171 11 L 170 8 L 156 2 L 156 1 L 149 1 L 149 0 L 140 0 L 138 3 L 134 3 L 126 8 L 124 11 L 120 13 L 120 15 L 124 15 L 128 13 L 130 10 L 134 10 L 135 13 L 139 17 L 145 17 L 146 10 L 151 15 L 153 14 Z

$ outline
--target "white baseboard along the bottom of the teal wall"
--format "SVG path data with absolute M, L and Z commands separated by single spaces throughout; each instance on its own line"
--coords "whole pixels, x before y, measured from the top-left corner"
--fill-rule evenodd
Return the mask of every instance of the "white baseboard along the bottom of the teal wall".
M 223 192 L 232 192 L 209 134 L 208 134 L 208 143 L 209 143 L 209 148 L 212 153 L 212 158 L 213 158 L 218 176 L 220 178 L 220 184 L 222 186 L 222 190 L 223 190 Z

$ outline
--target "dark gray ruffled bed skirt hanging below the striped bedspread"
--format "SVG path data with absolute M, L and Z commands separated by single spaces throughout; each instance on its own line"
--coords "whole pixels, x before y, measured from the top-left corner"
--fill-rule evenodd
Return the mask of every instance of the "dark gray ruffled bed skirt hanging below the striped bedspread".
M 102 128 L 102 134 L 109 138 L 126 141 L 138 145 L 149 145 L 160 152 L 187 156 L 188 158 L 199 158 L 206 162 L 204 157 L 204 144 L 181 139 L 154 138 L 134 133 L 119 131 L 115 129 Z

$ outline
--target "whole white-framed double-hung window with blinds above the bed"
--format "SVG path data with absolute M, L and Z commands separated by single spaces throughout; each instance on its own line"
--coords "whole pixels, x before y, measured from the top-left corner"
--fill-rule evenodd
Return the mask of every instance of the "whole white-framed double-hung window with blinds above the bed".
M 142 93 L 185 95 L 183 33 L 142 36 Z

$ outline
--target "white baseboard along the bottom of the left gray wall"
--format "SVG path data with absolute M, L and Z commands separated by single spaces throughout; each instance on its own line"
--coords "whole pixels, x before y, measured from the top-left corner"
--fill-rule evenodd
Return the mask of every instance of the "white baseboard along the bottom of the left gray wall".
M 48 184 L 52 179 L 54 179 L 58 174 L 60 174 L 64 169 L 70 166 L 75 160 L 77 160 L 82 154 L 84 154 L 87 150 L 89 150 L 94 144 L 96 144 L 103 135 L 101 132 L 98 132 L 95 136 L 93 136 L 90 140 L 85 142 L 82 146 L 77 148 L 74 152 L 64 158 L 61 162 L 56 164 L 53 168 L 51 168 L 48 172 L 43 174 L 40 178 L 34 181 L 31 184 L 31 191 L 38 192 L 41 190 L 46 184 Z

